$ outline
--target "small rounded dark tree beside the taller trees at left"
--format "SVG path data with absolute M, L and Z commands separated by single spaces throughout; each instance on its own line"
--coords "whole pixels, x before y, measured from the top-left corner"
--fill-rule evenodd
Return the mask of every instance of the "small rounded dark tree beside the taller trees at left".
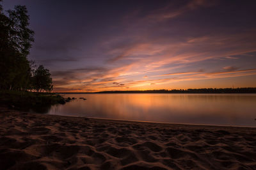
M 40 65 L 35 70 L 33 76 L 33 86 L 36 91 L 51 91 L 52 90 L 52 78 L 49 70 L 45 69 L 44 66 Z

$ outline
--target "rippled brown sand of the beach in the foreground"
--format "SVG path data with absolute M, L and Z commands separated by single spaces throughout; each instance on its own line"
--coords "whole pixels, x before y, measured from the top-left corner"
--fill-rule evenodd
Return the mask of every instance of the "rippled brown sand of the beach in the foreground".
M 256 169 L 256 128 L 0 112 L 0 169 Z

